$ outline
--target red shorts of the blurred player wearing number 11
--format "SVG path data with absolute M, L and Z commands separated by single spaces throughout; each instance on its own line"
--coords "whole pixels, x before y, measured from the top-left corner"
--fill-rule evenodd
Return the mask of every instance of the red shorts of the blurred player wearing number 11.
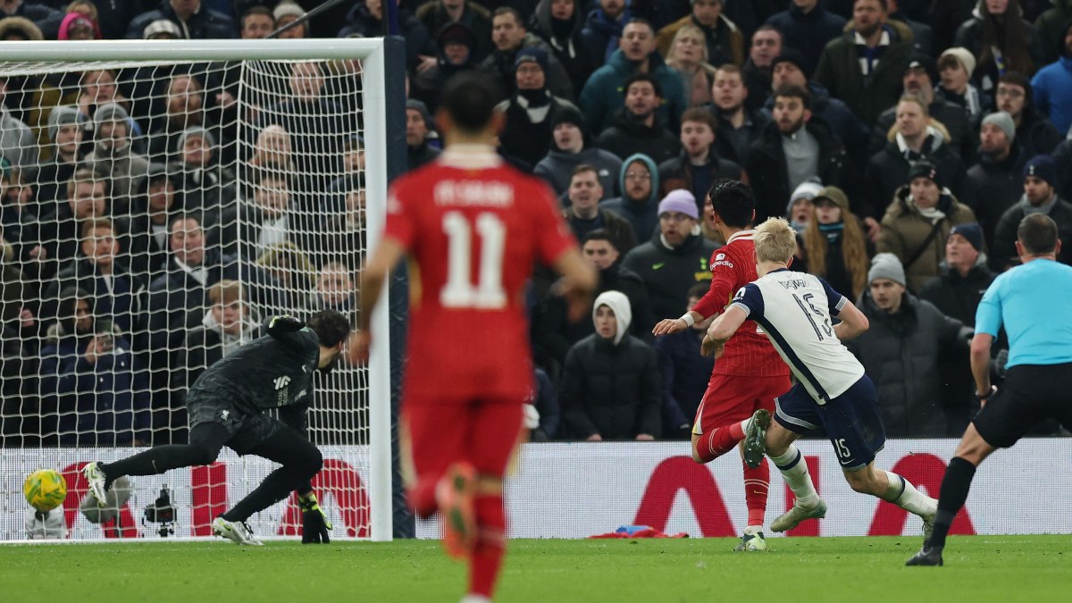
M 452 462 L 464 460 L 478 473 L 502 477 L 524 435 L 524 411 L 517 398 L 485 401 L 407 399 L 402 405 L 403 476 L 438 480 Z M 408 457 L 408 458 L 406 458 Z

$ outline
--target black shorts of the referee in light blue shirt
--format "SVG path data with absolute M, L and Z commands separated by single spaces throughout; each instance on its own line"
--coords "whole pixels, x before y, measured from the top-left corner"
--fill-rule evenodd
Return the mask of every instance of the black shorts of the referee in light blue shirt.
M 1072 428 L 1072 364 L 1010 368 L 972 423 L 987 444 L 1007 448 L 1046 418 Z

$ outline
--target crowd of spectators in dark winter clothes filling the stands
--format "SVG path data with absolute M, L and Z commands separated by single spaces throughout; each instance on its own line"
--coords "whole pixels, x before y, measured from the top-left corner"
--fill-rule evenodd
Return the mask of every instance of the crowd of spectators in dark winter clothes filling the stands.
M 263 38 L 317 4 L 8 0 L 0 40 Z M 282 36 L 383 34 L 382 0 L 342 6 Z M 965 342 L 1023 216 L 1057 221 L 1072 262 L 1072 1 L 403 0 L 398 26 L 410 168 L 440 152 L 446 78 L 491 74 L 500 153 L 599 269 L 591 322 L 546 278 L 530 292 L 540 439 L 688 438 L 710 362 L 699 332 L 651 328 L 711 278 L 718 178 L 868 315 L 851 349 L 891 436 L 974 412 Z M 0 77 L 5 441 L 181 440 L 182 388 L 259 315 L 356 323 L 360 67 L 291 64 L 276 92 L 239 71 Z M 354 407 L 345 374 L 325 407 Z

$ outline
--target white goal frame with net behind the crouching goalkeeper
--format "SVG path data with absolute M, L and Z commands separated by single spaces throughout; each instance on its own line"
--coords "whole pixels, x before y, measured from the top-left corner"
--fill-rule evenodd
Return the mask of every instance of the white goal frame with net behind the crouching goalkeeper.
M 0 540 L 29 536 L 21 486 L 36 469 L 66 479 L 53 513 L 70 539 L 210 535 L 273 470 L 224 448 L 208 467 L 133 477 L 114 519 L 78 512 L 86 462 L 188 441 L 187 388 L 264 319 L 334 309 L 357 325 L 386 189 L 382 44 L 0 44 L 20 59 L 0 63 Z M 314 377 L 313 486 L 333 538 L 390 538 L 376 374 L 343 359 Z M 165 488 L 174 523 L 159 509 L 147 520 Z M 296 500 L 250 525 L 298 534 Z

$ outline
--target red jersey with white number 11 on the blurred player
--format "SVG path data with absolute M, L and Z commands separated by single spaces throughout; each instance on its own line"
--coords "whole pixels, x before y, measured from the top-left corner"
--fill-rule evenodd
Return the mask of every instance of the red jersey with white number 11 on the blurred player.
M 577 245 L 548 186 L 490 148 L 445 151 L 399 178 L 385 236 L 411 260 L 405 387 L 421 397 L 532 389 L 525 284 Z

